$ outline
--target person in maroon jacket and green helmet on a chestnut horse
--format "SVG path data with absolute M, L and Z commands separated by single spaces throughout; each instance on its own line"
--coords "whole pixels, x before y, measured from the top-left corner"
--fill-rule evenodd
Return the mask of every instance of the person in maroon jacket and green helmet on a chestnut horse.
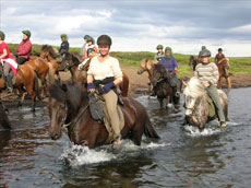
M 14 52 L 14 56 L 16 57 L 16 61 L 19 64 L 23 64 L 26 61 L 29 60 L 29 56 L 32 54 L 32 43 L 29 40 L 31 38 L 31 32 L 28 30 L 25 30 L 23 33 L 23 40 L 19 44 L 16 51 Z

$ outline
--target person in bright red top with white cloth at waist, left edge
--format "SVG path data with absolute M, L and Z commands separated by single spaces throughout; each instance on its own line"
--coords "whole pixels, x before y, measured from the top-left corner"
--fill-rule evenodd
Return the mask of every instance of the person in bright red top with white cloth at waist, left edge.
M 3 66 L 3 79 L 9 92 L 13 92 L 12 78 L 16 74 L 17 63 L 12 59 L 10 49 L 4 43 L 5 35 L 0 31 L 0 63 Z M 12 71 L 11 71 L 12 70 Z

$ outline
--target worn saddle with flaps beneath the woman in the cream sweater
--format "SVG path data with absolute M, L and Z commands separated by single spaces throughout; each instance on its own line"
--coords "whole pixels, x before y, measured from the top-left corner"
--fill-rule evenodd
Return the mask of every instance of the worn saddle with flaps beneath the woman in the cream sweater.
M 98 94 L 89 94 L 89 109 L 91 109 L 91 115 L 92 118 L 96 121 L 98 121 L 99 124 L 104 124 L 106 127 L 106 130 L 108 131 L 109 136 L 108 139 L 106 141 L 106 143 L 111 143 L 113 141 L 113 130 L 111 128 L 111 124 L 110 124 L 110 117 L 108 115 L 107 108 L 106 108 L 106 104 L 103 99 L 103 97 Z M 117 113 L 119 115 L 119 119 L 120 119 L 120 130 L 122 130 L 123 126 L 124 126 L 124 117 L 123 117 L 123 113 L 121 109 L 121 105 L 119 104 L 118 101 L 118 105 L 117 105 Z

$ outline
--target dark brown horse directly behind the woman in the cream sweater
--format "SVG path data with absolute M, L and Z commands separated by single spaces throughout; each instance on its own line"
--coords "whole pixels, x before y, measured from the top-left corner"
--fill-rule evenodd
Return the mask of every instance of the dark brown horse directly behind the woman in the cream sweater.
M 89 64 L 89 61 L 86 64 Z M 81 63 L 81 59 L 77 55 L 73 52 L 67 52 L 60 64 L 60 70 L 69 69 L 72 74 L 73 82 L 77 84 L 85 84 L 87 82 L 86 71 L 88 69 L 88 66 L 85 64 L 85 70 L 81 71 L 77 69 L 80 63 Z M 129 95 L 129 78 L 124 72 L 123 72 L 123 80 L 119 84 L 119 89 L 121 91 L 122 96 Z

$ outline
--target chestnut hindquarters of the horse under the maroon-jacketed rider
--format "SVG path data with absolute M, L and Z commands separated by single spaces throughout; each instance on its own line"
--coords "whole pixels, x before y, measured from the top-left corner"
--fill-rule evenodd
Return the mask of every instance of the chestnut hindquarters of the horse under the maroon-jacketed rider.
M 28 64 L 37 74 L 37 77 L 40 79 L 41 81 L 41 85 L 43 85 L 43 91 L 44 93 L 41 93 L 41 96 L 44 96 L 47 93 L 47 81 L 46 81 L 46 77 L 49 72 L 49 64 L 47 61 L 45 61 L 43 58 L 33 58 L 29 61 L 25 62 L 25 64 Z M 50 79 L 49 79 L 50 80 Z

